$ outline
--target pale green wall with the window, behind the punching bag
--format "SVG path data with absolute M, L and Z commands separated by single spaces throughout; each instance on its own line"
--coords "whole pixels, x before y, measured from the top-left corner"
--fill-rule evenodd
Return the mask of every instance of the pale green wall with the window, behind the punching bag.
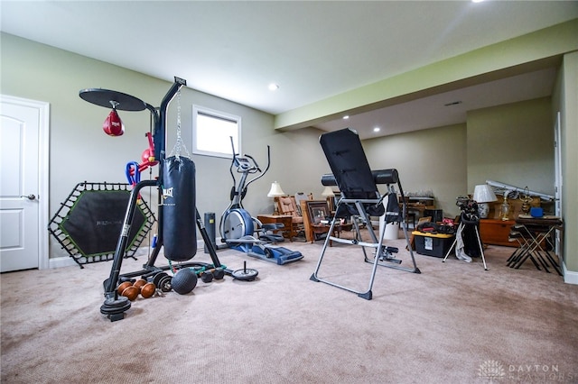
M 125 134 L 109 137 L 102 131 L 109 110 L 85 102 L 79 97 L 79 90 L 89 87 L 113 89 L 158 106 L 172 82 L 13 35 L 2 33 L 0 37 L 0 92 L 50 103 L 49 217 L 57 212 L 61 202 L 79 182 L 126 182 L 126 162 L 140 161 L 142 151 L 148 146 L 144 133 L 149 130 L 150 114 L 146 111 L 119 111 Z M 271 146 L 271 168 L 264 178 L 249 187 L 244 201 L 252 215 L 273 212 L 273 200 L 266 197 L 266 193 L 275 180 L 288 194 L 305 191 L 320 197 L 320 175 L 327 172 L 328 167 L 319 148 L 319 131 L 306 129 L 278 133 L 273 129 L 273 116 L 270 114 L 183 87 L 182 137 L 189 151 L 192 104 L 240 115 L 242 151 L 253 155 L 263 167 L 266 166 L 266 146 Z M 169 107 L 167 132 L 167 151 L 171 151 L 176 133 L 176 98 Z M 219 220 L 229 203 L 232 186 L 228 173 L 230 160 L 204 156 L 192 156 L 192 159 L 197 169 L 200 214 L 215 212 Z M 145 171 L 142 176 L 148 178 L 149 172 Z M 149 195 L 149 191 L 143 191 L 144 198 L 151 201 Z M 152 201 L 156 202 L 156 192 L 152 191 L 152 195 Z M 57 242 L 52 239 L 50 242 L 51 258 L 68 256 Z

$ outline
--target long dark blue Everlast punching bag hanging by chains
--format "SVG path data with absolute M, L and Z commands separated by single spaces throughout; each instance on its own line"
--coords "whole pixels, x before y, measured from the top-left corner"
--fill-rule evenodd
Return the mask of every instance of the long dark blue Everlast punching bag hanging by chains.
M 162 188 L 164 257 L 190 260 L 197 252 L 195 163 L 183 156 L 165 159 Z

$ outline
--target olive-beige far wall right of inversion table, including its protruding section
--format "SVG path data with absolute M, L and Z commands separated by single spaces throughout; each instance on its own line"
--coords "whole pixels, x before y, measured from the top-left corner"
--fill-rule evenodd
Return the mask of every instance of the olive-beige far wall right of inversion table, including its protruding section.
M 444 215 L 455 197 L 491 179 L 554 195 L 554 125 L 549 97 L 483 108 L 464 124 L 364 142 L 372 168 L 396 168 L 406 192 L 432 190 Z

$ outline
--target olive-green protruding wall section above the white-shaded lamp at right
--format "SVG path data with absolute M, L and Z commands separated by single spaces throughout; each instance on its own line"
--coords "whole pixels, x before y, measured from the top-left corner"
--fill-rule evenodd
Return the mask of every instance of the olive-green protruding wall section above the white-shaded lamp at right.
M 468 112 L 468 191 L 494 180 L 554 196 L 550 97 Z

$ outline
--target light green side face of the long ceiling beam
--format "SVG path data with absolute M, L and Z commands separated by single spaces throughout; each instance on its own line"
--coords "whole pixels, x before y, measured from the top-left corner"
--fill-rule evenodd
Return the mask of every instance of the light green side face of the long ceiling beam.
M 275 116 L 275 129 L 294 130 L 371 109 L 548 68 L 578 50 L 578 19 L 434 62 Z

